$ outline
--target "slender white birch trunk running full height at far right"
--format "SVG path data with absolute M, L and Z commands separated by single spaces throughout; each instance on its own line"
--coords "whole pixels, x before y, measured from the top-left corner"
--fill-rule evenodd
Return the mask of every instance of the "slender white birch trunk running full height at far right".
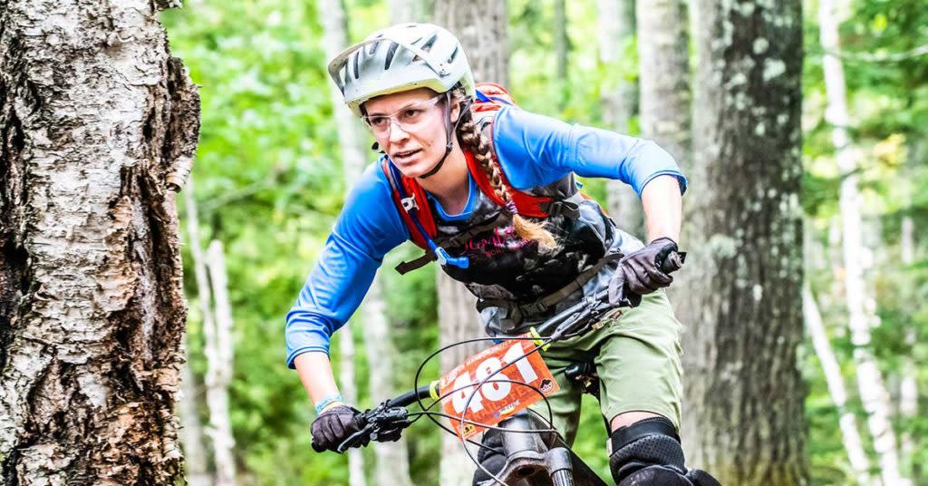
M 851 139 L 845 129 L 850 124 L 845 98 L 844 66 L 841 59 L 830 54 L 840 47 L 838 20 L 833 0 L 821 0 L 818 10 L 820 39 L 825 51 L 823 70 L 827 108 L 826 121 L 831 124 L 831 142 L 835 147 L 835 159 L 844 179 L 841 182 L 839 206 L 841 208 L 842 248 L 844 254 L 844 300 L 847 303 L 848 329 L 854 345 L 854 361 L 857 365 L 857 387 L 860 400 L 867 412 L 867 424 L 873 437 L 873 448 L 880 457 L 883 484 L 908 484 L 899 473 L 896 434 L 889 421 L 889 392 L 883 375 L 877 366 L 870 348 L 870 326 L 873 316 L 868 315 L 865 304 L 870 300 L 864 284 L 864 269 L 860 263 L 863 249 L 860 222 L 861 197 L 857 189 L 857 160 L 851 150 Z

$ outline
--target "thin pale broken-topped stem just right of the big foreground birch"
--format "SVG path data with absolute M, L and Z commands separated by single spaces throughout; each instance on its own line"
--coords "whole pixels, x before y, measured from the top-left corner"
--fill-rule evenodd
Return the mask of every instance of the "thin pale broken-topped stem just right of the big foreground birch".
M 206 269 L 212 283 L 215 327 L 206 339 L 206 406 L 210 410 L 209 435 L 213 439 L 213 461 L 216 466 L 215 486 L 235 486 L 235 438 L 229 420 L 228 387 L 232 382 L 232 306 L 228 298 L 226 256 L 217 240 L 206 250 Z

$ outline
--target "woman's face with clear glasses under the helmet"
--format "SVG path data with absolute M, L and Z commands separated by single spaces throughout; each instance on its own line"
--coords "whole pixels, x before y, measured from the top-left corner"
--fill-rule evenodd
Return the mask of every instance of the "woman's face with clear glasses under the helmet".
M 364 108 L 380 149 L 406 177 L 428 173 L 445 156 L 444 94 L 423 87 L 369 99 Z M 452 123 L 457 117 L 455 108 Z

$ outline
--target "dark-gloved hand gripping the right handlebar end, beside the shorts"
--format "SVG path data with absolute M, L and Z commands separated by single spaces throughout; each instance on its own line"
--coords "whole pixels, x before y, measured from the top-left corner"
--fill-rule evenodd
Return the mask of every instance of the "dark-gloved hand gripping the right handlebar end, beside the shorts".
M 683 258 L 672 257 L 666 263 L 664 260 L 676 254 L 677 243 L 670 238 L 658 238 L 625 256 L 609 282 L 609 303 L 620 306 L 627 299 L 632 307 L 636 307 L 641 303 L 641 296 L 670 285 L 674 278 L 667 273 L 679 269 Z

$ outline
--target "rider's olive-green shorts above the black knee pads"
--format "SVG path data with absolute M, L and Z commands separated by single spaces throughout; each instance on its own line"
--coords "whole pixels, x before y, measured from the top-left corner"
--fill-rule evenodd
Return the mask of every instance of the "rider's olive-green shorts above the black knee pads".
M 564 369 L 585 356 L 594 357 L 596 363 L 599 408 L 606 420 L 625 412 L 651 412 L 667 417 L 678 429 L 683 395 L 681 327 L 666 294 L 658 291 L 618 318 L 607 317 L 600 329 L 544 351 L 542 356 L 561 386 L 548 401 L 554 427 L 564 439 L 574 443 L 582 396 L 580 386 L 567 380 Z M 548 417 L 544 401 L 532 409 Z

